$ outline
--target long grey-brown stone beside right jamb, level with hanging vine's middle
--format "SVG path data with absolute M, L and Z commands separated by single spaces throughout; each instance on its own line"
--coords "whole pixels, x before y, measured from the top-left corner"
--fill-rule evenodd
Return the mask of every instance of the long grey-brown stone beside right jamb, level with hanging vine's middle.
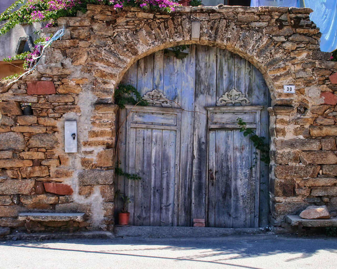
M 275 145 L 277 150 L 320 150 L 321 148 L 319 139 L 277 139 Z

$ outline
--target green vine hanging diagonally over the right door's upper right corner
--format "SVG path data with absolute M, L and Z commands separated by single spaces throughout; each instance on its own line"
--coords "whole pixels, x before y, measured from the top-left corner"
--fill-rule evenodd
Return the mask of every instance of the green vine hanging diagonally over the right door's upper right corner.
M 247 128 L 247 123 L 244 122 L 241 118 L 237 118 L 236 121 L 237 121 L 237 124 L 240 126 L 240 132 L 243 132 L 243 135 L 245 137 L 249 135 L 249 139 L 254 143 L 254 147 L 260 151 L 261 161 L 265 162 L 268 165 L 270 163 L 269 144 L 265 143 L 266 138 L 258 137 L 251 128 Z

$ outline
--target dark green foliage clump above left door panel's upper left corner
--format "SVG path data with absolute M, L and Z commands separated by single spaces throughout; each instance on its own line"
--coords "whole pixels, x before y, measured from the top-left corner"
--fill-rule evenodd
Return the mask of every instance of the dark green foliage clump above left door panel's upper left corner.
M 132 95 L 135 96 L 135 99 Z M 139 106 L 148 105 L 148 102 L 146 100 L 142 100 L 141 94 L 132 85 L 119 84 L 115 89 L 114 98 L 115 104 L 117 104 L 121 109 L 125 108 L 124 105 L 126 104 L 137 104 Z

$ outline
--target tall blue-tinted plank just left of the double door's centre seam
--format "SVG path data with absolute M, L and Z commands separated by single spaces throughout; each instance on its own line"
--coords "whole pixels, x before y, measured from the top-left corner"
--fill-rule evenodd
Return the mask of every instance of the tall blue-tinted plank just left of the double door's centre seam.
M 180 135 L 180 177 L 179 177 L 179 221 L 178 226 L 191 224 L 191 185 L 193 156 L 193 121 L 194 121 L 194 87 L 195 87 L 195 45 L 190 45 L 189 54 L 184 58 L 181 83 Z M 188 110 L 188 111 L 186 111 Z

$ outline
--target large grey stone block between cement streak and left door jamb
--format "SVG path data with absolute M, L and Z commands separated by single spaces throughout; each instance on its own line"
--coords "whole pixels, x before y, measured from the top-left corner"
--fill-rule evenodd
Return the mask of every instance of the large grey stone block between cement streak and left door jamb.
M 85 170 L 78 174 L 79 186 L 109 185 L 113 184 L 114 170 Z

